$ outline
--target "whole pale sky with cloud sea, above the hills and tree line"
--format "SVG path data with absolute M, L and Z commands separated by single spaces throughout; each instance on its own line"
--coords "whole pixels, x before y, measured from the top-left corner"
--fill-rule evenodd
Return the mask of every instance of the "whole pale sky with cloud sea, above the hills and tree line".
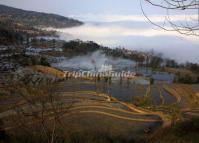
M 110 47 L 153 49 L 179 62 L 199 63 L 199 37 L 158 29 L 143 16 L 140 0 L 0 0 L 0 4 L 55 13 L 85 23 L 80 27 L 56 29 L 65 40 L 79 38 Z M 143 3 L 143 7 L 154 22 L 163 23 L 165 10 L 146 3 Z M 170 14 L 174 22 L 187 19 L 182 11 Z M 197 16 L 193 11 L 188 14 Z

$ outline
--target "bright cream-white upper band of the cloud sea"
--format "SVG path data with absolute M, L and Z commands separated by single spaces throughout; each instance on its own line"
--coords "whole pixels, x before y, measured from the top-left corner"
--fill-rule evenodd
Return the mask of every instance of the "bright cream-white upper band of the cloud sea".
M 132 28 L 120 25 L 106 25 L 106 24 L 85 24 L 80 27 L 56 29 L 57 31 L 73 35 L 73 37 L 85 39 L 106 39 L 112 37 L 128 37 L 128 36 L 144 36 L 144 37 L 154 37 L 154 36 L 176 36 L 179 38 L 184 38 L 191 42 L 199 43 L 198 37 L 186 36 L 179 34 L 177 32 L 164 31 L 161 29 L 152 28 Z

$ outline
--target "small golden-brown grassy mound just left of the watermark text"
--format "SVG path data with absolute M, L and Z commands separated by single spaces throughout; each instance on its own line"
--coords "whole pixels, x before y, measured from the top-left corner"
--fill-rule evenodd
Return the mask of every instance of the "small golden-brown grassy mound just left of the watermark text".
M 32 69 L 37 71 L 37 72 L 41 72 L 41 73 L 45 73 L 45 74 L 50 74 L 53 76 L 56 76 L 60 79 L 64 78 L 64 72 L 57 70 L 55 68 L 52 67 L 46 67 L 46 66 L 41 66 L 41 65 L 36 65 L 36 66 L 32 66 Z

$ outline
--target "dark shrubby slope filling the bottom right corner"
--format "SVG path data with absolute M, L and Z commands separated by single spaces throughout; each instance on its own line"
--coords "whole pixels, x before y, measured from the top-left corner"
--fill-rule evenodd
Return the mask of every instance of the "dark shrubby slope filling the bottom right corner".
M 199 119 L 181 121 L 175 126 L 156 131 L 150 143 L 198 143 Z

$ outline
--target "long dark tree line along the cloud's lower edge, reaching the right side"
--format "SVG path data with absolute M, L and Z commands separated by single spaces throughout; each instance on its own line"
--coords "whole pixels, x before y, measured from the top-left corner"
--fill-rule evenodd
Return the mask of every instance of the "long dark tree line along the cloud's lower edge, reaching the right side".
M 95 51 L 101 51 L 107 56 L 113 58 L 129 59 L 136 62 L 136 67 L 151 68 L 152 70 L 162 70 L 177 74 L 178 72 L 188 71 L 192 74 L 196 72 L 197 64 L 178 64 L 175 60 L 164 59 L 161 54 L 154 54 L 154 52 L 139 52 L 136 50 L 127 50 L 124 48 L 111 49 L 109 47 L 100 46 L 92 41 L 83 42 L 81 40 L 73 40 L 65 42 L 63 45 L 64 55 L 67 57 L 86 55 Z M 192 66 L 190 66 L 192 65 Z M 192 69 L 192 70 L 191 70 Z M 175 70 L 175 71 L 174 71 Z M 176 72 L 177 71 L 177 72 Z M 185 72 L 185 73 L 186 73 Z M 180 82 L 180 81 L 179 81 Z

